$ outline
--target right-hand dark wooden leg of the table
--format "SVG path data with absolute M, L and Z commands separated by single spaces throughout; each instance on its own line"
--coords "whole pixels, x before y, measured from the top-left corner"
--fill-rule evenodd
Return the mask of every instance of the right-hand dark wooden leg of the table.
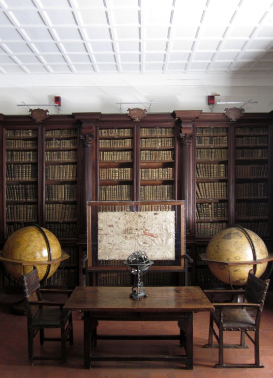
M 186 369 L 193 369 L 193 313 L 185 313 L 185 317 L 178 322 L 180 328 L 180 343 L 186 353 Z

